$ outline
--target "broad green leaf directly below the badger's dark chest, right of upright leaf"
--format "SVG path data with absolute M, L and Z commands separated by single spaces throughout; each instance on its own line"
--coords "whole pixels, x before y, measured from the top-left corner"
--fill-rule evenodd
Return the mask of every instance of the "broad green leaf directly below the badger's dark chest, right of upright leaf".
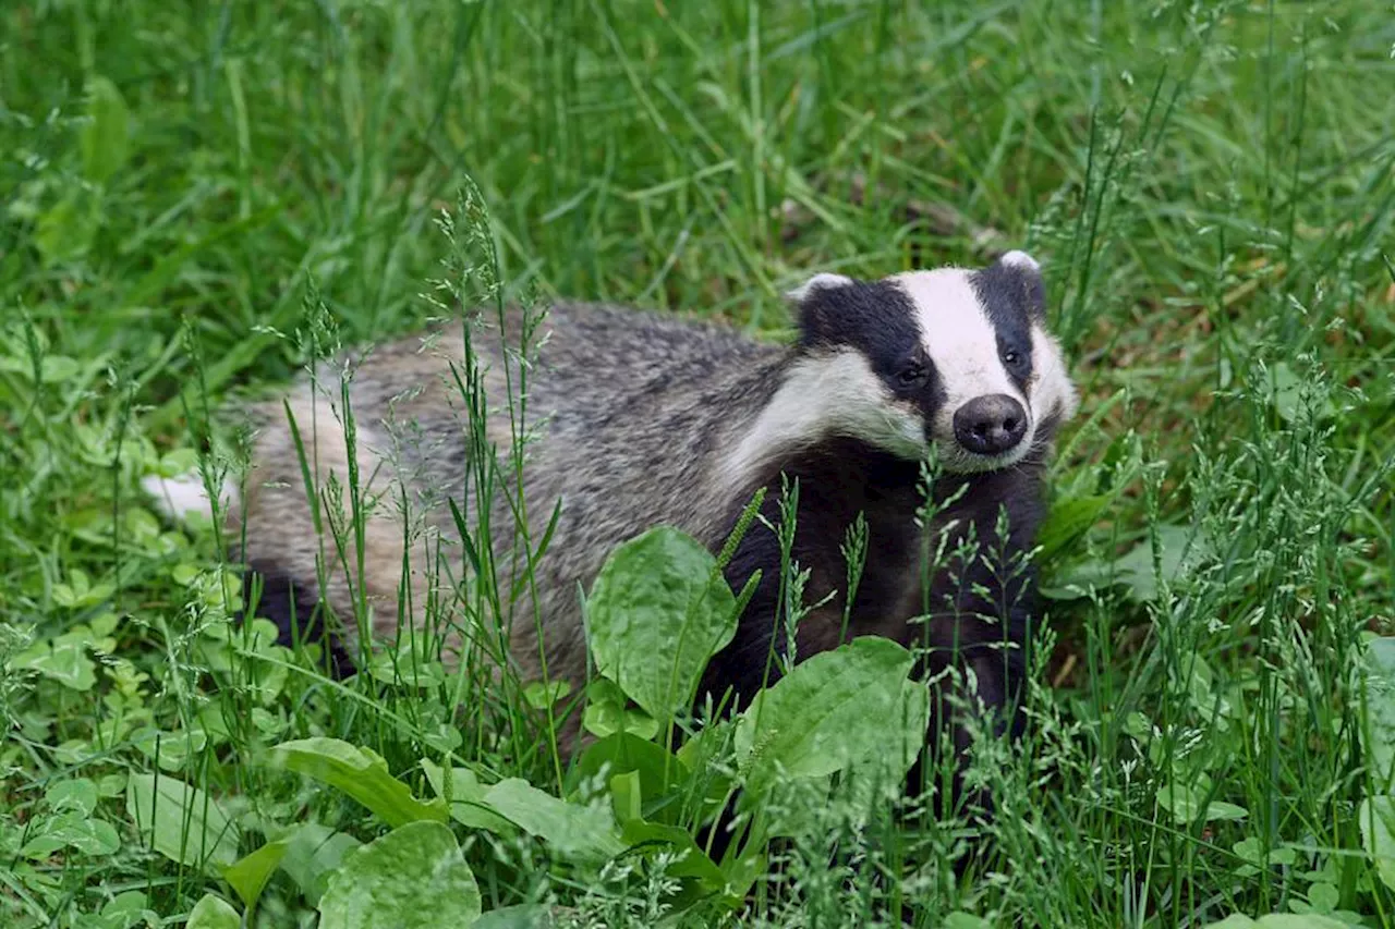
M 901 752 L 907 716 L 919 711 L 904 686 L 912 661 L 887 639 L 854 639 L 756 695 L 737 730 L 751 795 L 762 796 L 781 777 L 823 777 Z

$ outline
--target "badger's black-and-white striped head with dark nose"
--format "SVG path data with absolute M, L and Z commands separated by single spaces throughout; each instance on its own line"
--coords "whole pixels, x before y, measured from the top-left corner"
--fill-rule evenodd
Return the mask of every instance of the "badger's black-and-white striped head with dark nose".
M 790 299 L 797 356 L 748 452 L 843 435 L 907 459 L 933 444 L 946 470 L 988 471 L 1023 460 L 1076 411 L 1041 269 L 1021 251 L 978 271 L 820 273 Z

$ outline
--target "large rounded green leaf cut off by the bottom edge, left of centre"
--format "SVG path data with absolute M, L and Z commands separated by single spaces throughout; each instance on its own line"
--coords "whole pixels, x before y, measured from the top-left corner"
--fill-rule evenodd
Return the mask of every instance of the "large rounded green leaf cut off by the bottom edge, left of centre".
M 319 900 L 319 929 L 438 929 L 470 926 L 480 889 L 451 829 L 399 826 L 357 849 Z

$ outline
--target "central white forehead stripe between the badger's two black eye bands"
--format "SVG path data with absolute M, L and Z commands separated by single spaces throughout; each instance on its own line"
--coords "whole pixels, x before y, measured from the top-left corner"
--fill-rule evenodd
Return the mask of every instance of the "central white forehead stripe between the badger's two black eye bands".
M 1006 393 L 1024 402 L 997 356 L 997 332 L 970 282 L 958 268 L 912 271 L 893 278 L 915 305 L 921 343 L 935 364 L 944 409 L 954 416 L 967 400 L 986 393 Z

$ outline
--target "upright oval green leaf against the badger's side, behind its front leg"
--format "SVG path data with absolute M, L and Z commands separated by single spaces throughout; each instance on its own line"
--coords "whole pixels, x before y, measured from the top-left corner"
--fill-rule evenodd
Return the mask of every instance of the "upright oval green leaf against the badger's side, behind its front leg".
M 735 635 L 737 598 L 710 551 L 660 526 L 611 552 L 586 617 L 597 670 L 663 724 Z

